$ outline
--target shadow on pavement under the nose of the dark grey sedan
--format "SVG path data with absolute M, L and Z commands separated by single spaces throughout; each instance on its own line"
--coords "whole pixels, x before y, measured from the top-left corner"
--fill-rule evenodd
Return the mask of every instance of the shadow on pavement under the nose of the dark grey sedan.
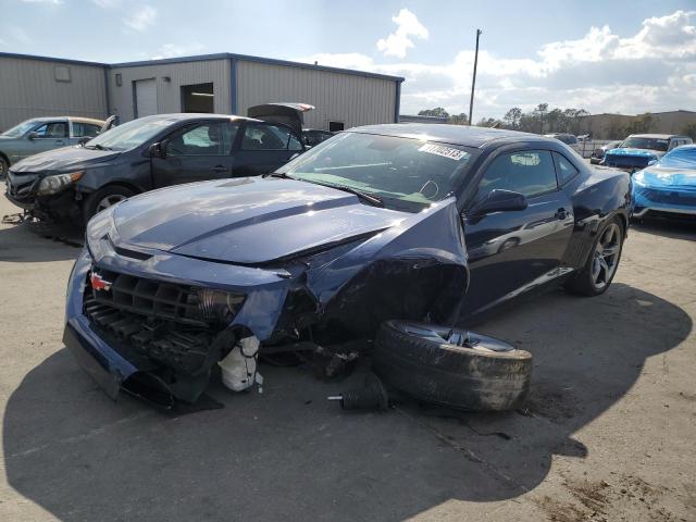
M 0 228 L 0 262 L 64 261 L 77 257 L 76 246 L 82 243 L 79 232 L 37 231 L 33 226 L 22 223 Z

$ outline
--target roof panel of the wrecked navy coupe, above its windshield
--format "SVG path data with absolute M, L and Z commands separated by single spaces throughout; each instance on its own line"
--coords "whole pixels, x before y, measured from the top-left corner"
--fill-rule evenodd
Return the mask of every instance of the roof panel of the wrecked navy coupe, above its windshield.
M 349 133 L 380 134 L 402 138 L 427 139 L 443 144 L 483 147 L 485 144 L 502 139 L 550 140 L 536 134 L 506 130 L 501 128 L 475 127 L 469 125 L 447 125 L 440 123 L 389 123 L 365 125 L 348 129 Z

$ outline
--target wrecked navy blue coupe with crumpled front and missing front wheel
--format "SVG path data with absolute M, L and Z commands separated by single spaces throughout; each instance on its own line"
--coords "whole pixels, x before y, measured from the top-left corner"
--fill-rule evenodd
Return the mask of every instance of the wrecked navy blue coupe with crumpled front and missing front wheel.
M 340 133 L 262 177 L 151 191 L 97 214 L 64 341 L 112 396 L 194 402 L 240 338 L 264 350 L 453 325 L 551 284 L 604 293 L 630 176 L 557 139 L 450 125 Z M 154 384 L 157 383 L 157 384 Z

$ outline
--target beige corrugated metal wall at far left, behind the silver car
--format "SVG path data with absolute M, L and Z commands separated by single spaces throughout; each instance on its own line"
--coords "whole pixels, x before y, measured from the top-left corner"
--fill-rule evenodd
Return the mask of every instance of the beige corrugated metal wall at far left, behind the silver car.
M 67 67 L 70 82 L 57 82 L 55 67 Z M 107 115 L 101 65 L 0 57 L 0 132 L 36 116 Z

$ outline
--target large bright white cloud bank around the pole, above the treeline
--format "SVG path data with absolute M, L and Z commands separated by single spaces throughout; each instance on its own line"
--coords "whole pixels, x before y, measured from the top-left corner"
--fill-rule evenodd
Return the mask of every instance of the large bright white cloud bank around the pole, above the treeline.
M 531 58 L 493 54 L 482 44 L 474 120 L 538 103 L 624 114 L 696 107 L 696 11 L 646 18 L 630 37 L 591 27 L 582 38 L 548 42 Z M 468 112 L 473 59 L 473 50 L 464 49 L 438 65 L 384 63 L 360 53 L 300 60 L 406 77 L 407 114 L 437 105 Z

